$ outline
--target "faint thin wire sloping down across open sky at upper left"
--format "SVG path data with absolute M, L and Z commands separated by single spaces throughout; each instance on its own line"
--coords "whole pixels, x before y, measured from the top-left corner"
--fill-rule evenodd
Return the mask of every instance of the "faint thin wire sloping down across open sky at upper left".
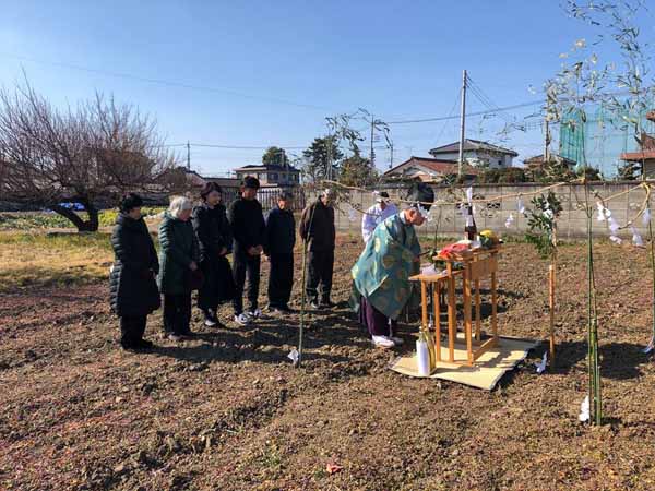
M 186 84 L 186 83 L 182 83 L 182 82 L 171 82 L 171 81 L 166 81 L 166 80 L 162 80 L 162 79 L 151 79 L 151 77 L 147 77 L 147 76 L 132 75 L 130 73 L 110 72 L 110 71 L 107 71 L 107 70 L 98 70 L 98 69 L 82 67 L 82 65 L 79 65 L 79 64 L 63 63 L 63 62 L 59 62 L 59 61 L 37 60 L 35 58 L 28 58 L 28 57 L 23 57 L 23 56 L 19 56 L 19 55 L 8 53 L 8 52 L 0 52 L 0 56 L 3 56 L 5 58 L 13 58 L 15 60 L 21 60 L 21 61 L 27 61 L 27 62 L 31 62 L 31 63 L 49 64 L 51 67 L 61 67 L 61 68 L 67 68 L 67 69 L 70 69 L 70 70 L 78 70 L 78 71 L 81 71 L 81 72 L 97 73 L 97 74 L 100 74 L 100 75 L 114 76 L 114 77 L 117 77 L 117 79 L 135 80 L 135 81 L 139 81 L 139 82 L 145 82 L 145 83 L 151 83 L 151 84 L 165 85 L 165 86 L 170 86 L 170 87 L 189 88 L 189 89 L 192 89 L 192 91 L 203 91 L 203 92 L 227 94 L 227 95 L 231 95 L 231 96 L 235 96 L 235 97 L 242 97 L 242 98 L 254 99 L 254 100 L 264 100 L 264 101 L 267 101 L 267 103 L 283 104 L 283 105 L 287 105 L 287 106 L 296 106 L 296 107 L 302 107 L 302 108 L 307 108 L 307 109 L 330 110 L 326 107 L 315 106 L 313 104 L 301 104 L 301 103 L 295 103 L 295 101 L 291 101 L 291 100 L 279 99 L 279 98 L 274 98 L 274 97 L 265 97 L 265 96 L 259 96 L 259 95 L 252 95 L 252 94 L 243 94 L 241 92 L 233 91 L 230 88 L 209 87 L 209 86 L 203 86 L 203 85 L 191 85 L 191 84 Z

